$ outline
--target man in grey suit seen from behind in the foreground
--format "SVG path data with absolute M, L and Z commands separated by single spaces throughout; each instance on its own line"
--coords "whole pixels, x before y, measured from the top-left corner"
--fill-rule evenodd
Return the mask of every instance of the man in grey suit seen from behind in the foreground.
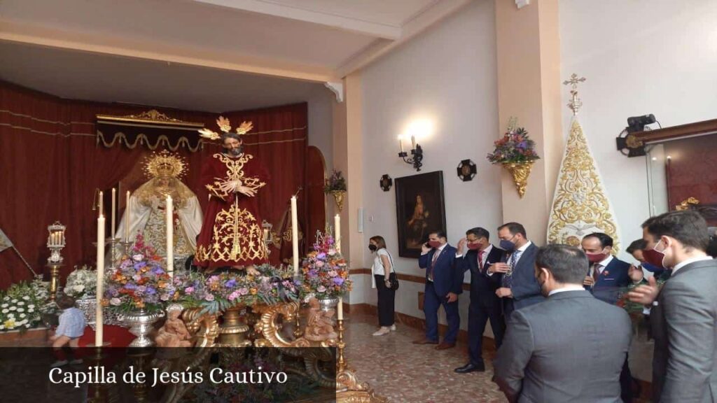
M 493 380 L 510 402 L 620 402 L 630 317 L 584 290 L 587 268 L 576 247 L 537 252 L 534 272 L 548 299 L 507 319 L 494 363 Z

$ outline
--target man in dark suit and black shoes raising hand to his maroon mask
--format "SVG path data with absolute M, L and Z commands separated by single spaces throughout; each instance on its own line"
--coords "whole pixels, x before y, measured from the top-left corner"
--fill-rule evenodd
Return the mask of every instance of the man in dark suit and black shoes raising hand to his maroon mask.
M 456 368 L 458 374 L 473 371 L 485 371 L 481 354 L 483 350 L 483 332 L 490 320 L 493 329 L 495 347 L 503 342 L 503 312 L 500 298 L 495 290 L 500 287 L 500 274 L 488 275 L 488 267 L 503 260 L 504 251 L 490 244 L 490 233 L 484 228 L 468 229 L 465 238 L 458 242 L 456 264 L 460 272 L 470 270 L 470 305 L 468 305 L 468 364 Z M 463 255 L 467 246 L 468 251 Z

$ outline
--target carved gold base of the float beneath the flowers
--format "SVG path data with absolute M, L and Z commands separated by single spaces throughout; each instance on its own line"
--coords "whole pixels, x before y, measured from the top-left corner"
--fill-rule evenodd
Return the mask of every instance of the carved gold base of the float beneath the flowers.
M 300 304 L 298 302 L 278 303 L 275 305 L 254 305 L 252 307 L 237 307 L 224 312 L 224 323 L 219 325 L 219 315 L 204 313 L 199 315 L 201 308 L 184 310 L 182 318 L 187 329 L 194 334 L 194 346 L 214 347 L 280 347 L 282 353 L 295 357 L 297 362 L 288 368 L 294 374 L 308 376 L 317 381 L 322 388 L 336 389 L 335 393 L 327 395 L 327 401 L 340 403 L 384 403 L 387 400 L 375 394 L 366 382 L 359 381 L 356 373 L 349 368 L 343 355 L 346 343 L 343 333 L 346 330 L 343 320 L 338 321 L 336 332 L 326 331 L 326 316 L 316 316 L 315 310 L 310 310 L 305 327 L 301 326 Z M 242 322 L 244 318 L 247 323 Z M 285 326 L 286 325 L 286 326 Z M 246 335 L 250 327 L 253 328 L 254 341 L 247 340 Z M 317 335 L 338 335 L 323 340 Z M 300 335 L 297 337 L 297 335 Z M 313 340 L 306 338 L 314 335 Z M 302 348 L 323 347 L 325 349 L 312 350 L 310 354 Z M 326 374 L 322 363 L 333 360 L 333 354 L 328 349 L 336 347 L 338 357 L 336 363 L 336 379 Z M 316 352 L 314 352 L 316 351 Z M 317 399 L 312 399 L 318 402 Z

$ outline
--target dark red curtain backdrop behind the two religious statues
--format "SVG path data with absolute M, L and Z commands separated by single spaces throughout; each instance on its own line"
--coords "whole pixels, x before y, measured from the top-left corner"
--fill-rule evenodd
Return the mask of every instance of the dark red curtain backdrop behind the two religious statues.
M 47 225 L 55 221 L 67 226 L 67 246 L 62 250 L 65 266 L 60 270 L 63 281 L 74 265 L 94 265 L 95 189 L 110 189 L 146 154 L 141 147 L 130 150 L 119 145 L 98 146 L 95 115 L 129 115 L 148 109 L 63 100 L 0 82 L 0 229 L 35 272 L 47 271 Z M 217 114 L 160 111 L 172 118 L 204 123 L 217 131 Z M 283 204 L 305 178 L 306 105 L 224 115 L 235 125 L 242 119 L 254 121 L 255 134 L 245 139 L 247 151 L 256 153 L 272 176 L 261 194 L 262 214 L 278 226 L 273 220 L 280 219 Z M 199 184 L 201 161 L 217 151 L 219 146 L 210 145 L 196 153 L 180 152 L 189 161 L 185 182 L 201 202 L 206 200 L 206 192 Z M 105 204 L 106 216 L 109 209 Z M 305 222 L 303 212 L 300 221 Z M 14 251 L 0 252 L 0 289 L 31 277 Z

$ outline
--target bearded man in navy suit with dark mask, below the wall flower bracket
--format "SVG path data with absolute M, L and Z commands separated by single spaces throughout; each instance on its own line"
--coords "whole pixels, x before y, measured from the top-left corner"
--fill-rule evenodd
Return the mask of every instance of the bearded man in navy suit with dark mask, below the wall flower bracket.
M 500 249 L 508 252 L 505 262 L 490 266 L 488 275 L 502 273 L 500 288 L 495 295 L 503 301 L 503 316 L 508 319 L 513 310 L 539 303 L 545 298 L 540 293 L 533 270 L 538 247 L 526 237 L 526 229 L 517 222 L 498 227 Z

